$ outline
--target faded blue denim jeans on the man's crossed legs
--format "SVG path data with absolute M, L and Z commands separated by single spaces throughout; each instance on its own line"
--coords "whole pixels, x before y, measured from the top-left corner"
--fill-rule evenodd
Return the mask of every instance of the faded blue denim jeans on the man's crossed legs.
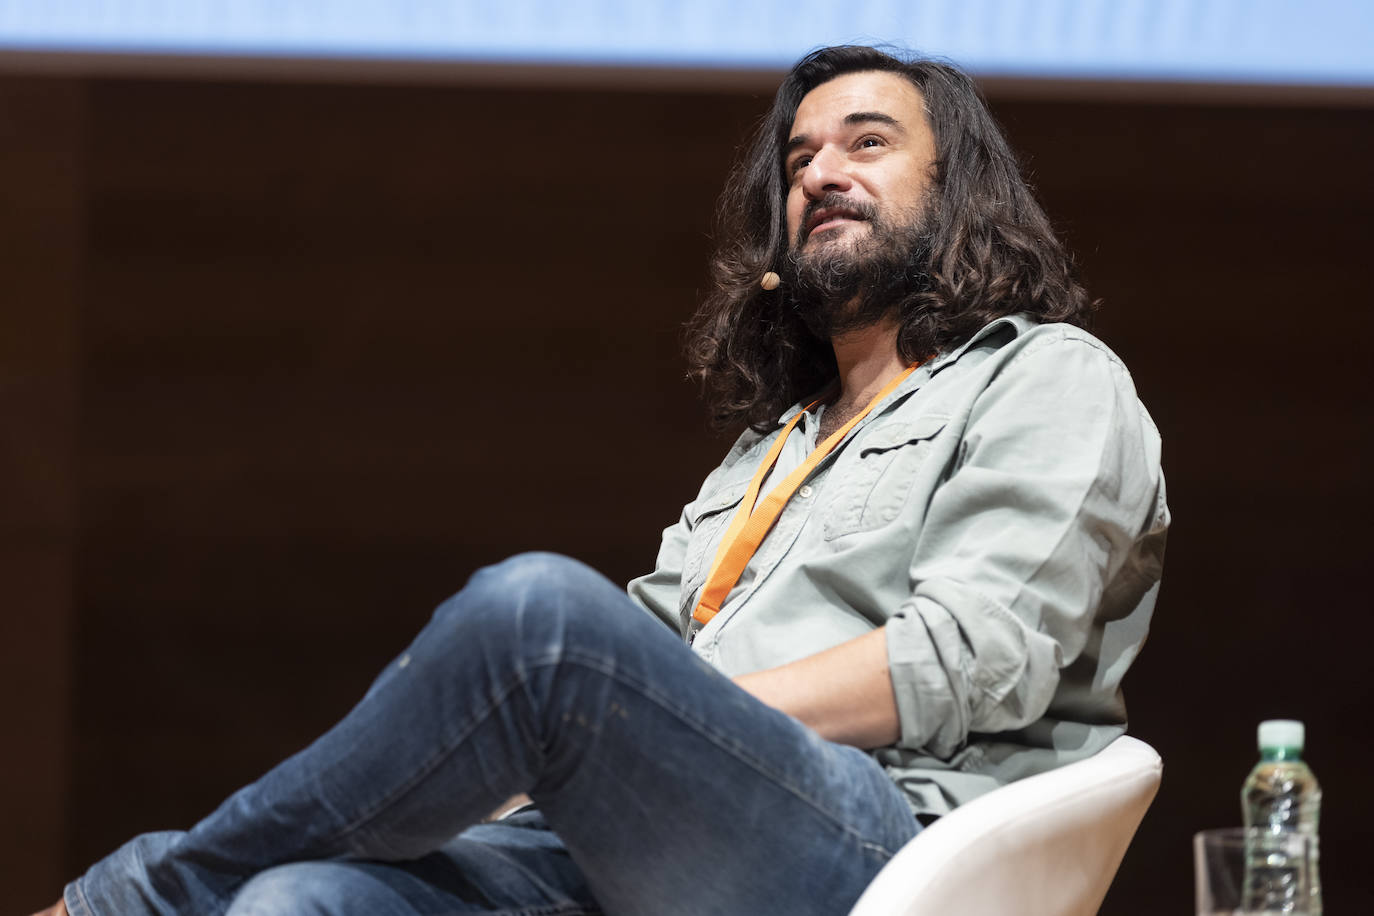
M 537 813 L 475 825 L 528 792 Z M 698 659 L 592 570 L 482 570 L 333 729 L 73 916 L 845 913 L 919 829 L 871 757 Z

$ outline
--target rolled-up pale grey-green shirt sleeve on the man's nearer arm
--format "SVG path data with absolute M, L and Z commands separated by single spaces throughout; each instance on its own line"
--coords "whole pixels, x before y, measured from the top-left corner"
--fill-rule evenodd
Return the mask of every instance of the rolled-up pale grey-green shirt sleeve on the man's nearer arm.
M 918 507 L 911 597 L 886 622 L 901 747 L 948 758 L 1046 714 L 1160 486 L 1158 435 L 1109 352 L 1046 338 L 1000 367 Z

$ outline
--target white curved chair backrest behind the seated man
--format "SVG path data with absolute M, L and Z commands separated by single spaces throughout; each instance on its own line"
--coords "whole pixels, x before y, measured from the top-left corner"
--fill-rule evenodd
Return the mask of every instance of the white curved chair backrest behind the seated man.
M 1092 916 L 1162 769 L 1123 735 L 960 805 L 901 847 L 849 916 Z

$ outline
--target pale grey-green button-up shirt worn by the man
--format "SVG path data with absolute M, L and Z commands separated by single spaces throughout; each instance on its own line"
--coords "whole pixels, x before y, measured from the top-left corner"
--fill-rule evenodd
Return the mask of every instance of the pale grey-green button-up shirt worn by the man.
M 731 677 L 885 626 L 901 737 L 872 754 L 918 813 L 1121 735 L 1169 512 L 1160 435 L 1116 354 L 1007 317 L 930 360 L 819 464 L 702 628 L 725 526 L 800 409 L 735 442 L 631 597 Z M 764 493 L 816 446 L 823 409 Z

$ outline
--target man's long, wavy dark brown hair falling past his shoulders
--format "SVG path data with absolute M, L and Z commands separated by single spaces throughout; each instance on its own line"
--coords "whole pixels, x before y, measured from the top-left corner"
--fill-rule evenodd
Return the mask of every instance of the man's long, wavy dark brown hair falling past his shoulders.
M 786 287 L 765 291 L 758 282 L 787 254 L 783 150 L 797 106 L 829 80 L 872 70 L 921 91 L 936 139 L 930 276 L 894 304 L 901 357 L 951 349 L 1017 312 L 1085 325 L 1095 306 L 973 80 L 864 45 L 822 48 L 783 80 L 720 198 L 713 290 L 687 325 L 688 375 L 717 427 L 772 428 L 837 374 L 830 342 L 807 328 Z

